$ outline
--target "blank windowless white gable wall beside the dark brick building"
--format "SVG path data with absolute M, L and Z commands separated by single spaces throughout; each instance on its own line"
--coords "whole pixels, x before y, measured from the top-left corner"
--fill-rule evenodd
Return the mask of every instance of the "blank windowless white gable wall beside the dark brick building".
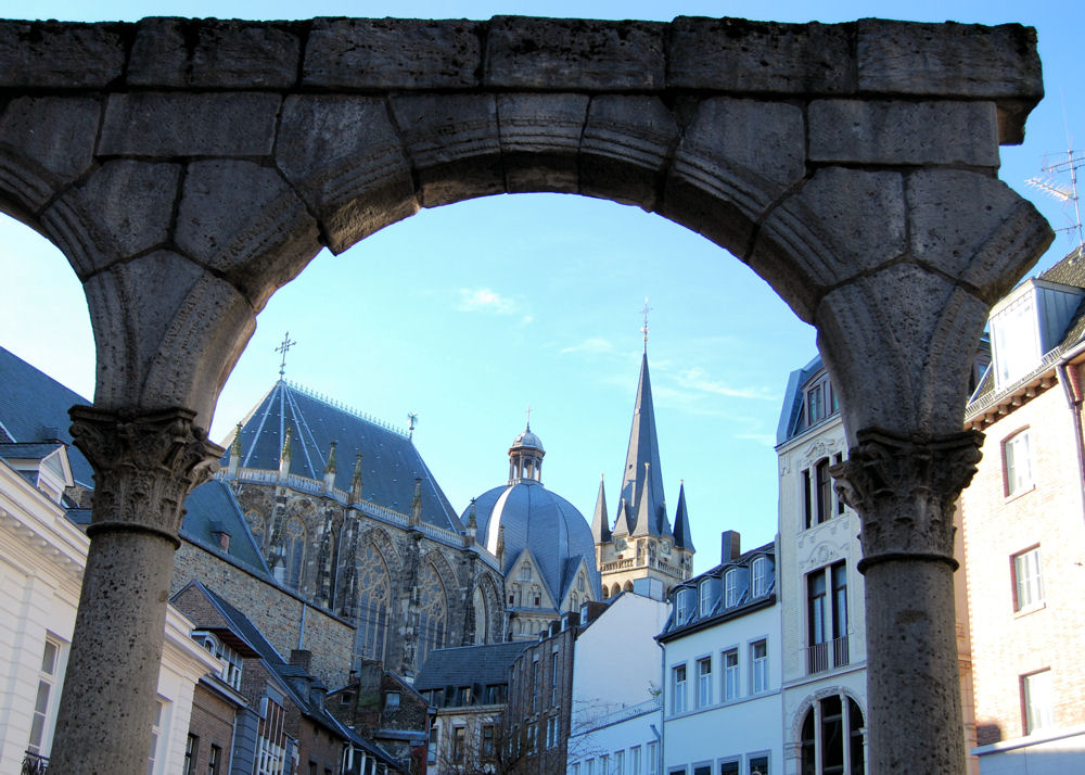
M 572 729 L 655 696 L 662 650 L 655 643 L 671 606 L 624 593 L 576 638 Z

